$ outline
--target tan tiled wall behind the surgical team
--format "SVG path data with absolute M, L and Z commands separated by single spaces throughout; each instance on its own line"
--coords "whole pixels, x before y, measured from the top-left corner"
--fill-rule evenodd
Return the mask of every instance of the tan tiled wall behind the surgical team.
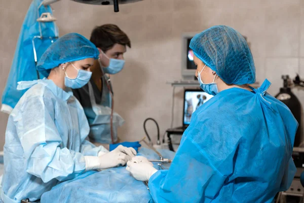
M 6 84 L 17 38 L 30 0 L 0 4 L 0 94 Z M 91 6 L 68 0 L 53 5 L 60 35 L 79 32 L 90 37 L 95 25 L 115 23 L 130 37 L 132 49 L 125 55 L 125 69 L 112 77 L 115 109 L 126 120 L 120 129 L 123 140 L 144 136 L 143 121 L 155 118 L 161 135 L 171 123 L 172 87 L 167 81 L 180 79 L 182 32 L 202 31 L 225 24 L 239 30 L 251 44 L 257 80 L 268 78 L 276 94 L 281 75 L 304 77 L 304 1 L 302 0 L 144 0 L 121 5 Z M 181 124 L 181 88 L 175 89 L 174 126 Z M 294 90 L 304 104 L 304 91 Z M 0 113 L 0 149 L 8 116 Z M 156 127 L 147 123 L 156 139 Z

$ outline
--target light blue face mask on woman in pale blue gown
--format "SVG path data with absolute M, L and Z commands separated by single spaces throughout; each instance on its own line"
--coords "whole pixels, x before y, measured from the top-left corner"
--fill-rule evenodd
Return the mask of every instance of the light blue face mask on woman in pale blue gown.
M 78 71 L 78 74 L 75 79 L 70 79 L 70 78 L 68 78 L 67 74 L 65 73 L 64 85 L 66 87 L 70 87 L 72 89 L 78 89 L 78 88 L 85 86 L 89 82 L 89 80 L 92 76 L 92 72 L 79 70 L 73 65 L 73 63 L 71 63 L 71 64 L 74 67 L 74 69 L 76 69 Z

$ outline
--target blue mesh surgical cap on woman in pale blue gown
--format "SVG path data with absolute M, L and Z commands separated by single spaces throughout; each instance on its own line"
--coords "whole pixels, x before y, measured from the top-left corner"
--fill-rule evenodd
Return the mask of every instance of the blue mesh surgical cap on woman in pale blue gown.
M 44 52 L 37 62 L 37 70 L 48 77 L 51 69 L 61 63 L 85 58 L 98 59 L 98 57 L 99 51 L 92 42 L 78 33 L 68 33 L 51 44 Z

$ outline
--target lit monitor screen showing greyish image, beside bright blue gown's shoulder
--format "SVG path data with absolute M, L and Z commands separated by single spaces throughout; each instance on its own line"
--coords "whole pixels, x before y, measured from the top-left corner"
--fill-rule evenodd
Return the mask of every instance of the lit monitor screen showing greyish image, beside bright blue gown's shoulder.
M 212 97 L 203 90 L 185 90 L 183 124 L 189 125 L 192 114 Z

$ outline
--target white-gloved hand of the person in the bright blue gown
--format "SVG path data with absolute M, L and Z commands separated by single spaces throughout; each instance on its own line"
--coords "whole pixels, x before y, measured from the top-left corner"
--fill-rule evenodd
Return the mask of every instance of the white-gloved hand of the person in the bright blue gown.
M 134 158 L 127 162 L 126 170 L 129 171 L 136 180 L 148 181 L 150 177 L 158 171 L 153 167 L 153 163 L 151 162 L 137 162 L 136 159 L 133 159 Z

